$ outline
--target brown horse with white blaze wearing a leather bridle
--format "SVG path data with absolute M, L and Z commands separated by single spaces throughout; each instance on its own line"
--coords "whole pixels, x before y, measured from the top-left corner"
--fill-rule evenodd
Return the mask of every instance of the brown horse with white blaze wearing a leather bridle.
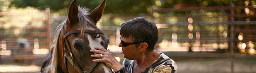
M 72 1 L 68 18 L 56 29 L 56 41 L 40 73 L 112 73 L 103 62 L 93 62 L 90 49 L 108 47 L 108 38 L 96 23 L 101 19 L 105 0 L 90 14 Z

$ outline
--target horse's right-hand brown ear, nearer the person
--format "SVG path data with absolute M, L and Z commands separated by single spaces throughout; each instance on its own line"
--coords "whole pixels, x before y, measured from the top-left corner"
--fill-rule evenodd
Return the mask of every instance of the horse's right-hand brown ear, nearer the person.
M 102 1 L 102 3 L 93 9 L 93 11 L 90 13 L 89 17 L 94 20 L 95 23 L 101 19 L 101 16 L 103 14 L 103 10 L 105 8 L 105 0 Z

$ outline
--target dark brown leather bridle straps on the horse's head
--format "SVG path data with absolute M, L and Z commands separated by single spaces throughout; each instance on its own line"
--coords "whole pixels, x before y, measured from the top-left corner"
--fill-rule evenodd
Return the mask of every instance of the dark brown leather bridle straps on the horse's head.
M 63 28 L 62 28 L 62 39 L 63 39 L 63 49 L 64 49 L 64 64 L 65 64 L 65 68 L 67 69 L 67 64 L 66 64 L 66 60 L 68 59 L 68 62 L 70 62 L 70 64 L 72 64 L 72 67 L 79 72 L 79 73 L 91 73 L 91 71 L 95 68 L 95 66 L 98 64 L 98 62 L 93 62 L 93 64 L 90 65 L 89 68 L 87 69 L 82 69 L 82 67 L 78 64 L 78 62 L 76 61 L 75 57 L 72 55 L 72 51 L 71 51 L 71 47 L 68 43 L 67 37 L 71 34 L 78 34 L 81 33 L 81 30 L 75 30 L 75 31 L 69 31 L 66 33 L 66 24 L 64 24 Z M 98 30 L 85 30 L 84 33 L 90 34 L 92 38 L 99 38 L 99 36 L 97 36 L 97 34 L 103 34 L 103 32 L 98 31 Z M 103 34 L 104 35 L 104 34 Z M 67 53 L 67 50 L 71 51 L 71 53 Z M 86 70 L 86 71 L 83 71 Z

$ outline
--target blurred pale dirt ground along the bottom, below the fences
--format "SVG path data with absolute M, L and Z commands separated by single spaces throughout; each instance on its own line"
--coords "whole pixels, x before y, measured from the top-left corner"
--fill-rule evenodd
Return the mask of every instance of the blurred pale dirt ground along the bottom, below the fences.
M 177 73 L 231 73 L 231 58 L 218 57 L 170 57 L 176 61 Z M 122 60 L 121 60 L 122 61 Z M 7 63 L 8 65 L 18 65 Z M 3 62 L 0 66 L 3 66 Z M 21 65 L 27 66 L 27 65 Z M 40 66 L 37 66 L 37 68 Z M 0 73 L 2 73 L 0 71 Z M 6 73 L 6 72 L 4 72 Z M 8 72 L 38 73 L 38 72 Z M 256 73 L 256 58 L 234 58 L 234 73 Z

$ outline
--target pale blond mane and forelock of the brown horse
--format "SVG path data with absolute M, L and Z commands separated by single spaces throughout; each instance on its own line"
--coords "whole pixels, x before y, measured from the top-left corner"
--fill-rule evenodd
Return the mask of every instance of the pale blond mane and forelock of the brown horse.
M 79 17 L 79 30 L 81 30 L 81 35 L 84 35 L 84 30 L 86 30 L 86 26 L 87 24 L 91 23 L 93 24 L 93 22 L 91 22 L 91 20 L 89 18 L 86 18 L 86 15 L 89 15 L 89 9 L 87 8 L 82 8 L 82 7 L 78 7 L 78 17 Z M 67 19 L 64 20 L 59 26 L 57 26 L 56 31 L 55 31 L 55 37 L 53 41 L 53 46 L 51 47 L 51 52 L 48 54 L 48 56 L 46 57 L 46 60 L 44 61 L 42 68 L 41 68 L 41 72 L 40 73 L 54 73 L 56 72 L 56 68 L 57 68 L 57 62 L 58 62 L 58 55 L 57 55 L 57 51 L 58 51 L 58 43 L 59 43 L 59 37 L 61 29 L 63 28 L 64 24 L 66 23 Z

